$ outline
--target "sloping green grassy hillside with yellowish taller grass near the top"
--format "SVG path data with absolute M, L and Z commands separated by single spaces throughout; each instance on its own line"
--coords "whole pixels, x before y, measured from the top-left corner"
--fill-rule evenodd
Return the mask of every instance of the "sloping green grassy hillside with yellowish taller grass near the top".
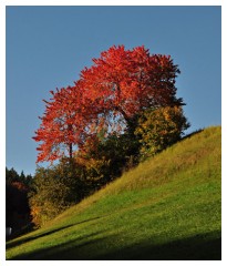
M 220 259 L 221 127 L 186 137 L 7 243 L 7 259 Z

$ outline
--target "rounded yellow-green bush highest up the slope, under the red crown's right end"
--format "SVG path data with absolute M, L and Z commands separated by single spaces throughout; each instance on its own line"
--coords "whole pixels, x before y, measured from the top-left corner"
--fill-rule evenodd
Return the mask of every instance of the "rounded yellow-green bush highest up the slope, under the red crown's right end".
M 180 140 L 189 127 L 180 106 L 146 110 L 138 119 L 135 135 L 141 143 L 141 158 L 152 156 Z

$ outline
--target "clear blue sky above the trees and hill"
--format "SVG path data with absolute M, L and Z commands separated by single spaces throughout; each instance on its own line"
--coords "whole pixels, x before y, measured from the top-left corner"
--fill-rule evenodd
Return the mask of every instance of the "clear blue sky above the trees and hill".
M 172 55 L 188 132 L 221 123 L 220 7 L 7 7 L 6 19 L 9 168 L 34 173 L 42 99 L 113 44 Z

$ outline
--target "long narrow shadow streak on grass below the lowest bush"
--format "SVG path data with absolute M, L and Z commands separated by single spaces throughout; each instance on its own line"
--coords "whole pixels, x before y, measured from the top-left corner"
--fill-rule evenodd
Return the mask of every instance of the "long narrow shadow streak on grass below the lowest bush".
M 85 219 L 85 221 L 79 222 L 76 224 L 71 224 L 71 225 L 63 226 L 63 227 L 60 227 L 60 228 L 56 228 L 56 229 L 53 229 L 53 231 L 44 232 L 42 234 L 37 234 L 34 236 L 29 236 L 29 237 L 25 237 L 25 238 L 22 238 L 22 239 L 18 239 L 18 241 L 14 239 L 13 242 L 7 243 L 6 247 L 7 247 L 7 249 L 12 248 L 12 247 L 19 246 L 21 244 L 24 244 L 24 243 L 28 243 L 28 242 L 31 242 L 31 241 L 34 241 L 34 239 L 38 239 L 38 238 L 41 238 L 41 237 L 44 237 L 44 236 L 49 236 L 49 235 L 54 234 L 56 232 L 70 228 L 72 226 L 80 225 L 80 224 L 83 224 L 83 223 L 86 223 L 86 222 L 90 222 L 90 221 L 94 221 L 94 219 L 99 219 L 99 218 L 101 218 L 101 217 L 94 217 L 94 218 Z

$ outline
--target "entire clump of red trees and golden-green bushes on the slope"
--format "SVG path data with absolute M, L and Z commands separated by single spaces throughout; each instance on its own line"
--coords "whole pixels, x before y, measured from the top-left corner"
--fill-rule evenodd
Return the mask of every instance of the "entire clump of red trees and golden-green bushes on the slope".
M 34 175 L 37 226 L 180 139 L 189 124 L 176 96 L 178 73 L 169 55 L 120 45 L 93 59 L 74 85 L 51 91 L 33 139 L 38 163 L 60 161 Z

